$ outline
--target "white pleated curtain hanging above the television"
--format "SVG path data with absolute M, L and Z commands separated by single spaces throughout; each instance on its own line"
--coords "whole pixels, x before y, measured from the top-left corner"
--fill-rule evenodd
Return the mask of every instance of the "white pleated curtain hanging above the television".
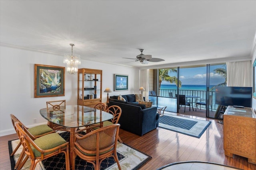
M 227 86 L 252 86 L 251 61 L 238 61 L 227 63 Z

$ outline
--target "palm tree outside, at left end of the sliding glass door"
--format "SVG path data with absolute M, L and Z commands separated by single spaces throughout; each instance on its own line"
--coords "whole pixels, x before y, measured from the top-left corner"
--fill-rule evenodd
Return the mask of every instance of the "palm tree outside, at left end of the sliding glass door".
M 175 83 L 176 86 L 178 86 L 178 78 L 176 76 L 169 76 L 168 73 L 170 72 L 177 72 L 175 68 L 166 68 L 166 69 L 160 69 L 159 70 L 159 81 L 158 81 L 158 94 L 160 94 L 160 87 L 162 81 L 170 82 L 170 83 Z M 181 87 L 181 81 L 179 81 L 179 87 Z

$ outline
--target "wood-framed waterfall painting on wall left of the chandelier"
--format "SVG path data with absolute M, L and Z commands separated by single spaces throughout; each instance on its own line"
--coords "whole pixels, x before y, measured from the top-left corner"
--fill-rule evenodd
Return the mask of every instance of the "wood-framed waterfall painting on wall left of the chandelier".
M 34 97 L 65 96 L 65 67 L 35 64 Z

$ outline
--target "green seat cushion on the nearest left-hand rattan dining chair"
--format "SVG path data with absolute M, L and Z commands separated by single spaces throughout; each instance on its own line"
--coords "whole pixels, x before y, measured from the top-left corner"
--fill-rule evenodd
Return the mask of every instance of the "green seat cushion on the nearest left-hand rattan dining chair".
M 58 133 L 50 133 L 48 135 L 44 135 L 42 137 L 39 137 L 38 139 L 35 139 L 34 143 L 40 149 L 47 150 L 58 147 L 59 145 L 66 143 L 66 141 Z M 36 150 L 33 146 L 31 147 L 36 157 L 41 156 L 41 153 L 38 150 Z M 51 152 L 46 152 L 44 153 L 44 155 L 49 153 Z

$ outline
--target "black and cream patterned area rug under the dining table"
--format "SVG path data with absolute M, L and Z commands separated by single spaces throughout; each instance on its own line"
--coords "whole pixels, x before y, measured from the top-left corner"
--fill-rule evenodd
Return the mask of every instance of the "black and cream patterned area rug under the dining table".
M 69 141 L 69 132 L 60 133 L 60 135 L 66 140 Z M 19 140 L 8 141 L 9 152 L 12 153 L 12 150 L 16 148 Z M 14 166 L 16 161 L 18 161 L 18 157 L 20 156 L 20 152 L 22 150 L 22 146 L 14 156 L 10 156 L 11 167 L 14 170 Z M 124 143 L 118 143 L 117 145 L 117 154 L 118 160 L 120 162 L 122 170 L 137 170 L 146 162 L 148 162 L 152 157 L 142 153 Z M 22 170 L 29 170 L 30 161 L 28 160 Z M 56 156 L 52 156 L 46 160 L 43 160 L 42 163 L 38 163 L 36 166 L 36 170 L 63 170 L 66 169 L 65 165 L 65 155 L 58 154 Z M 94 170 L 94 166 L 91 163 L 86 162 L 85 160 L 80 159 L 78 156 L 76 157 L 76 166 L 75 170 Z M 118 170 L 118 166 L 113 158 L 105 159 L 100 167 L 100 170 Z

